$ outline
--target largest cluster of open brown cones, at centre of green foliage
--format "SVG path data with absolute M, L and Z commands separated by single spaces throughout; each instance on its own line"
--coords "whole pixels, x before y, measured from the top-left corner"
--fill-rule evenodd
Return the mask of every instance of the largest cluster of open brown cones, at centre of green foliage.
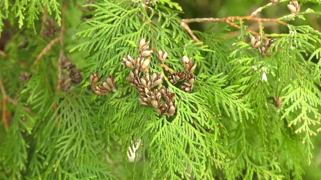
M 176 111 L 175 93 L 172 93 L 171 89 L 166 88 L 164 85 L 161 88 L 157 88 L 163 82 L 163 77 L 160 73 L 148 74 L 149 58 L 153 52 L 149 49 L 148 43 L 149 41 L 146 41 L 145 38 L 140 38 L 138 41 L 139 55 L 135 58 L 130 55 L 123 56 L 121 64 L 131 68 L 126 80 L 133 87 L 136 87 L 141 94 L 141 97 L 139 97 L 141 105 L 149 105 L 155 108 L 159 115 L 167 114 L 172 116 Z M 157 57 L 164 62 L 167 52 L 160 50 L 157 53 Z M 145 74 L 142 75 L 143 70 L 145 70 Z

